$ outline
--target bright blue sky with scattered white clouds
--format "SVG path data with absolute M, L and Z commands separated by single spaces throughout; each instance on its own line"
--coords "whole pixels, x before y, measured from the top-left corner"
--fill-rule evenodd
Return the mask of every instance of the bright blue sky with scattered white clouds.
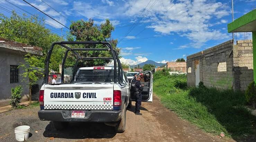
M 10 3 L 8 3 L 9 1 Z M 159 63 L 185 58 L 232 39 L 227 24 L 232 22 L 231 0 L 26 0 L 69 27 L 76 20 L 94 19 L 100 25 L 105 19 L 115 26 L 112 38 L 118 39 L 121 62 L 138 64 L 147 60 Z M 256 0 L 233 0 L 234 19 L 256 8 Z M 22 0 L 0 0 L 3 10 L 23 10 L 46 21 L 46 28 L 61 35 L 68 29 Z M 56 12 L 58 11 L 58 12 Z M 19 10 L 19 11 L 17 11 Z M 237 33 L 235 40 L 252 39 L 251 33 Z

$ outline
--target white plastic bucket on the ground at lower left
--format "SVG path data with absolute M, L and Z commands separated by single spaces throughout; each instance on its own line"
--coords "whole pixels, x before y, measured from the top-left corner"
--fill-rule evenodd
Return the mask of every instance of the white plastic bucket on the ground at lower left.
M 25 141 L 29 138 L 30 127 L 27 125 L 18 126 L 15 128 L 15 138 L 17 141 Z

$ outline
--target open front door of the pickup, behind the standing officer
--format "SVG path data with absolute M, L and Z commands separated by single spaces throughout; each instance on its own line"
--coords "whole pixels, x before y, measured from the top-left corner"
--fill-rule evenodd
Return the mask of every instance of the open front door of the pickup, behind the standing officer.
M 153 74 L 152 71 L 143 71 L 137 74 L 137 76 L 141 76 L 144 74 L 144 80 L 141 80 L 141 84 L 144 84 L 142 94 L 142 101 L 152 102 L 153 101 Z M 131 80 L 131 82 L 135 79 L 135 77 Z M 130 87 L 131 88 L 131 87 Z M 133 94 L 131 96 L 131 101 L 135 101 L 135 96 Z

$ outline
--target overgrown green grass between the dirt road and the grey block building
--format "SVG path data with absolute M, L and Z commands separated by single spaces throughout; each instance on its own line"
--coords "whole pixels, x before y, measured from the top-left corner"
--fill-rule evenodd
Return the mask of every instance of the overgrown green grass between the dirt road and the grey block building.
M 155 78 L 156 76 L 156 78 Z M 187 88 L 185 75 L 154 75 L 154 93 L 161 103 L 201 130 L 241 138 L 255 134 L 256 117 L 245 108 L 242 92 L 215 88 Z

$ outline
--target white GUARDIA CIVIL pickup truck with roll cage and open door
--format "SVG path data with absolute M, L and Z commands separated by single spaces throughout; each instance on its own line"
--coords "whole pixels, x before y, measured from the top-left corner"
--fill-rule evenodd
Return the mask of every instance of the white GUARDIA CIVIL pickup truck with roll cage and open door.
M 81 57 L 77 51 L 95 51 L 95 48 L 70 48 L 68 44 L 102 44 L 108 48 L 97 48 L 97 51 L 110 51 L 112 57 Z M 48 67 L 54 45 L 67 48 L 63 66 L 68 52 L 77 55 L 79 60 L 114 60 L 114 66 L 81 67 L 73 71 L 69 82 L 64 81 L 62 74 L 61 83 L 52 84 L 48 80 Z M 152 72 L 148 72 L 152 73 Z M 151 75 L 152 76 L 152 75 Z M 152 101 L 152 78 L 145 82 L 143 89 L 144 101 Z M 103 122 L 116 127 L 118 133 L 125 131 L 126 108 L 134 100 L 130 96 L 130 86 L 126 78 L 117 53 L 107 42 L 56 42 L 53 43 L 46 57 L 45 79 L 39 93 L 41 110 L 38 117 L 42 121 L 53 121 L 57 130 L 68 127 L 69 122 Z

